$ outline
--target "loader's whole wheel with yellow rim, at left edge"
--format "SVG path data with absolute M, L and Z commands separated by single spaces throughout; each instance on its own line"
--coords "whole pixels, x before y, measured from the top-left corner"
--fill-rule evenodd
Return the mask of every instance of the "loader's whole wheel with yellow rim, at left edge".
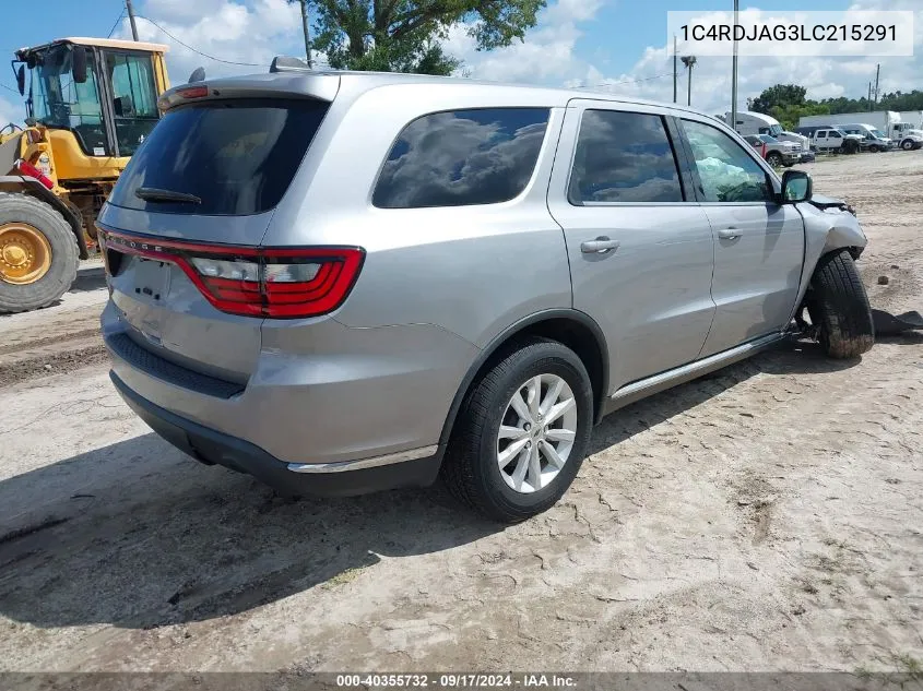
M 47 270 L 23 282 L 16 271 L 29 245 L 21 238 L 35 238 L 36 233 L 47 241 L 37 243 L 39 253 L 50 254 Z M 27 312 L 67 293 L 76 278 L 80 250 L 70 224 L 56 209 L 27 194 L 0 192 L 0 312 Z

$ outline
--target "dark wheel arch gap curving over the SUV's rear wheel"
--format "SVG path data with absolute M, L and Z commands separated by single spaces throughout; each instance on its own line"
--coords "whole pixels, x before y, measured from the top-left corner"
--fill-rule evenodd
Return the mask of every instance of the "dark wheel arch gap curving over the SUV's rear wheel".
M 575 309 L 549 309 L 535 312 L 513 323 L 478 354 L 459 385 L 439 436 L 439 454 L 445 454 L 459 410 L 474 384 L 518 341 L 543 336 L 573 350 L 590 376 L 593 386 L 593 419 L 602 419 L 603 402 L 608 390 L 608 348 L 600 325 L 585 312 Z

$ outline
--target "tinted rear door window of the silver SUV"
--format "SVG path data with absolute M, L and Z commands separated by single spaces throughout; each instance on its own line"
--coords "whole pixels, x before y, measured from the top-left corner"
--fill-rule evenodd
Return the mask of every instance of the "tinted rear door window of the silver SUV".
M 580 122 L 568 199 L 592 202 L 682 202 L 683 188 L 663 118 L 587 110 Z

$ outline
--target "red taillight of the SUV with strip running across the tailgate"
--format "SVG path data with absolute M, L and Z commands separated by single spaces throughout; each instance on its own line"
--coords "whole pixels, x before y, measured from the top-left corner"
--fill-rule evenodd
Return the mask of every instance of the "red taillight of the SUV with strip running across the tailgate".
M 110 250 L 179 266 L 216 309 L 228 314 L 297 319 L 326 314 L 356 283 L 357 247 L 244 248 L 103 231 Z

